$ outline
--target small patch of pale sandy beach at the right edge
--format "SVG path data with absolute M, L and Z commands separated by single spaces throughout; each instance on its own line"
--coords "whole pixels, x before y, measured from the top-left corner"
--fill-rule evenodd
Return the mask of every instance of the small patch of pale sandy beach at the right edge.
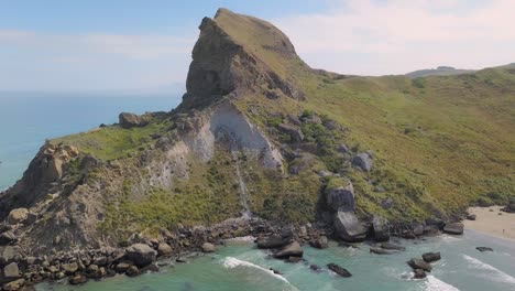
M 465 229 L 473 229 L 495 237 L 515 241 L 515 213 L 501 212 L 501 206 L 471 207 L 470 214 L 475 214 L 475 220 L 465 219 Z M 502 215 L 498 215 L 502 213 Z

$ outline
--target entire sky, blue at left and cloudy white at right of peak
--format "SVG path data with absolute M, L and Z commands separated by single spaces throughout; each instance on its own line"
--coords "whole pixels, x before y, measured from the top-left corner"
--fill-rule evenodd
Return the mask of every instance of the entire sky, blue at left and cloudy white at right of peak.
M 515 62 L 512 0 L 0 0 L 0 90 L 183 89 L 197 26 L 219 7 L 273 22 L 339 73 Z

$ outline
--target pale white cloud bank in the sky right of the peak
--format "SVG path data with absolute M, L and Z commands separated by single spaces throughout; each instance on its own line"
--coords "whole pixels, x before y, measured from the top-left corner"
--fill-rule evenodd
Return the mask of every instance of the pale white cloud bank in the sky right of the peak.
M 333 6 L 326 13 L 275 21 L 316 67 L 373 75 L 515 61 L 513 0 L 340 0 Z

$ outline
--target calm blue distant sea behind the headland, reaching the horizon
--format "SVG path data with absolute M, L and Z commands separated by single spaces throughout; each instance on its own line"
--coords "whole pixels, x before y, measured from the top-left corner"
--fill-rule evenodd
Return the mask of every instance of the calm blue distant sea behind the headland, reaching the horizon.
M 0 191 L 12 186 L 45 139 L 118 122 L 122 111 L 169 111 L 179 94 L 0 93 Z

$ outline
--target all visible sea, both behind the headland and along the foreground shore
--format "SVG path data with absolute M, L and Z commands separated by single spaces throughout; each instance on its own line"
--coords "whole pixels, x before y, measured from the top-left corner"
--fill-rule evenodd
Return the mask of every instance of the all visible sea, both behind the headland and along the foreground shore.
M 178 96 L 50 96 L 0 95 L 0 190 L 21 177 L 26 165 L 47 138 L 85 131 L 100 123 L 113 123 L 121 111 L 171 110 Z M 193 257 L 188 263 L 175 263 L 161 272 L 136 278 L 117 276 L 85 285 L 42 283 L 37 290 L 106 291 L 274 291 L 274 290 L 352 290 L 352 291 L 495 291 L 515 290 L 515 244 L 467 230 L 464 236 L 441 236 L 424 240 L 402 240 L 405 252 L 380 256 L 369 246 L 328 249 L 305 247 L 305 262 L 287 263 L 271 259 L 251 241 L 231 241 L 216 255 Z M 480 252 L 478 246 L 494 248 Z M 413 280 L 406 261 L 426 251 L 440 251 L 428 278 Z M 352 278 L 340 278 L 325 268 L 329 262 L 347 268 Z M 316 263 L 320 272 L 309 269 Z M 283 274 L 274 274 L 270 268 Z

